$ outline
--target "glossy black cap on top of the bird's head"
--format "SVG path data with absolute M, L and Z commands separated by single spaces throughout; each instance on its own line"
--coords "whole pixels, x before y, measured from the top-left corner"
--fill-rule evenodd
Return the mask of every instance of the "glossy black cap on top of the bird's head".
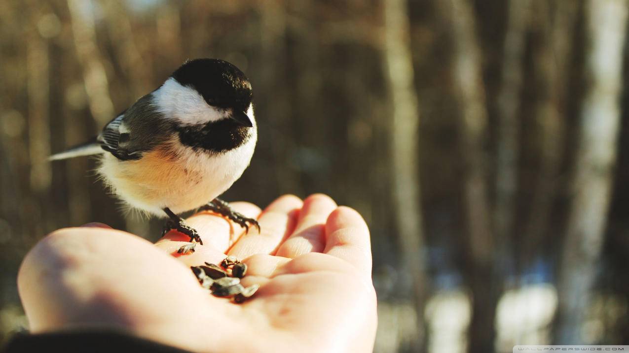
M 244 112 L 253 99 L 247 76 L 225 60 L 188 60 L 172 77 L 179 84 L 196 89 L 210 106 Z

